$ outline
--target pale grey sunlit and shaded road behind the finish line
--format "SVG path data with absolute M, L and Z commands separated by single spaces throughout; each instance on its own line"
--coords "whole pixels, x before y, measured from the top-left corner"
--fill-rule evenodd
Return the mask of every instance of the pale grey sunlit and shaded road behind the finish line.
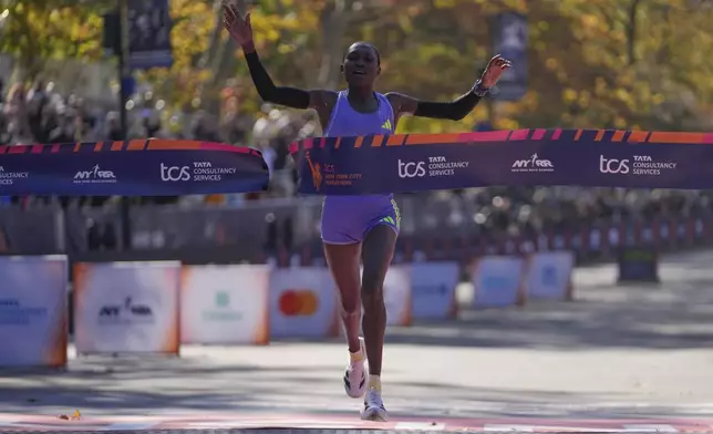
M 578 269 L 577 300 L 463 312 L 389 331 L 393 418 L 713 421 L 713 252 L 664 258 L 660 286 Z M 180 358 L 72 356 L 65 373 L 7 373 L 0 412 L 56 415 L 355 415 L 344 344 L 186 347 Z

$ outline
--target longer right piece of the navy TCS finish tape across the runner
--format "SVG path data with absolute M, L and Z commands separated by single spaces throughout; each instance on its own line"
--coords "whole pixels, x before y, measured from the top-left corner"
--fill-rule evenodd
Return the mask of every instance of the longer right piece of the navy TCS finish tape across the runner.
M 362 195 L 508 186 L 713 188 L 713 133 L 515 130 L 293 143 L 299 190 Z

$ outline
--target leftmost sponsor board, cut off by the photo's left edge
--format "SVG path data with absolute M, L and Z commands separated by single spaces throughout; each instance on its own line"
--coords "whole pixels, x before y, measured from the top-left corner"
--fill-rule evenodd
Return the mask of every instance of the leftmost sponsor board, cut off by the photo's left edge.
M 66 365 L 68 258 L 0 257 L 0 368 Z

